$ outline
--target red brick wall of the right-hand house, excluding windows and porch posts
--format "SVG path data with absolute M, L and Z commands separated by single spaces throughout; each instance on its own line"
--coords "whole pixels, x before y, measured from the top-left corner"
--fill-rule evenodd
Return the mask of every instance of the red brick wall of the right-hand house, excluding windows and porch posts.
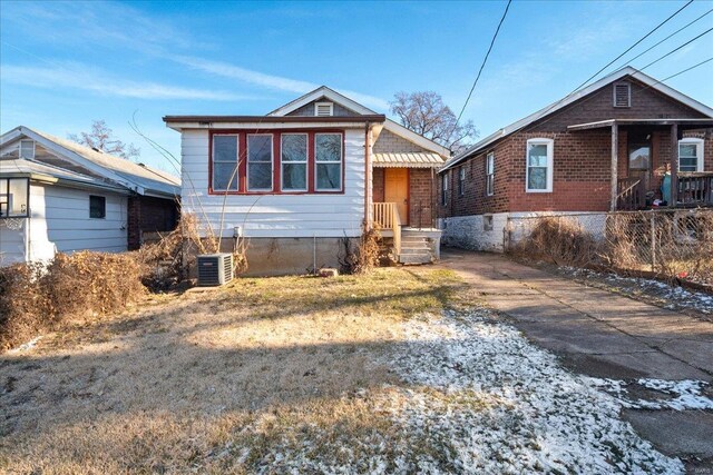
M 469 158 L 466 167 L 466 190 L 458 195 L 459 167 L 447 171 L 450 180 L 449 199 L 440 204 L 440 217 L 480 215 L 505 211 L 605 211 L 611 201 L 611 129 L 572 132 L 567 126 L 613 118 L 700 118 L 700 112 L 684 106 L 642 83 L 632 82 L 632 107 L 614 108 L 612 85 L 583 98 L 572 106 L 546 117 L 494 145 L 496 172 L 495 195 L 486 196 L 486 155 Z M 667 127 L 651 128 L 653 176 L 649 189 L 660 195 L 661 181 L 671 162 L 671 135 Z M 690 135 L 692 132 L 684 132 Z M 525 191 L 526 142 L 530 138 L 554 139 L 553 192 Z M 619 128 L 618 176 L 628 176 L 628 130 Z M 705 142 L 705 169 L 713 170 L 713 140 L 711 131 Z

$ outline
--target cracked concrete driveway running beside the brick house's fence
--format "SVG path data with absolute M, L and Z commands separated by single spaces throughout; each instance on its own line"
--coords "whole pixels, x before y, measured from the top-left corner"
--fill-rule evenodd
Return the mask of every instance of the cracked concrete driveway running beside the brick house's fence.
M 554 276 L 499 255 L 448 250 L 456 270 L 533 342 L 593 377 L 713 379 L 713 324 Z M 713 473 L 713 413 L 636 410 L 623 416 L 661 452 Z

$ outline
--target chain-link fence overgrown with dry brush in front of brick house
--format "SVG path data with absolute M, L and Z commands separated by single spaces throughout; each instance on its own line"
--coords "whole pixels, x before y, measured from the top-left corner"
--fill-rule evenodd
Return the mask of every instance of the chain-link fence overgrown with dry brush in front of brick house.
M 509 217 L 506 251 L 713 285 L 713 209 Z

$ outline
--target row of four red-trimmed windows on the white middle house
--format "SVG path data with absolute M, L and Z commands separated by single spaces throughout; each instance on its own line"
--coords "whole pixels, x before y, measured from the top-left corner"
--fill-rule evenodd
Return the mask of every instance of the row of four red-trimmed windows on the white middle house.
M 344 191 L 344 132 L 212 131 L 209 192 L 334 194 Z

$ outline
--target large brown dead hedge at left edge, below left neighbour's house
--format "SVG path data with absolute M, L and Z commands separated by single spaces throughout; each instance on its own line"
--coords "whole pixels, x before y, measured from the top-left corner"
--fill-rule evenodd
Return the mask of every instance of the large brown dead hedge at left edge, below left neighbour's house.
M 134 254 L 58 254 L 47 266 L 0 268 L 0 349 L 77 317 L 102 315 L 139 300 L 143 265 Z

